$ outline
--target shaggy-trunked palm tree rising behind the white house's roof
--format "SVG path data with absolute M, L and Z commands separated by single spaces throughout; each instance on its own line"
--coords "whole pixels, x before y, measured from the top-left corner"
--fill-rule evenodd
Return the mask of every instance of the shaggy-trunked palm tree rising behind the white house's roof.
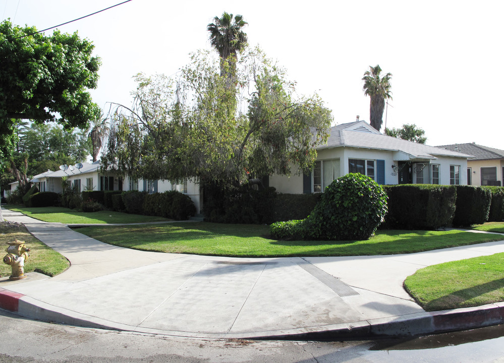
M 369 105 L 369 123 L 373 128 L 380 131 L 383 123 L 383 109 L 385 108 L 385 99 L 392 99 L 390 92 L 390 79 L 392 75 L 387 73 L 380 78 L 381 68 L 369 66 L 369 71 L 364 73 L 364 94 L 371 98 Z

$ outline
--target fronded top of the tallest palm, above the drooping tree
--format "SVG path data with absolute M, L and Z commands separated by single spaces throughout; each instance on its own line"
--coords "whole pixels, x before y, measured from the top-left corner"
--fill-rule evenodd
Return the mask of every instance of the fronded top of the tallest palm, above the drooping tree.
M 230 55 L 237 58 L 237 54 L 247 46 L 247 34 L 242 28 L 248 24 L 241 15 L 224 12 L 222 17 L 213 18 L 213 23 L 208 24 L 207 30 L 210 32 L 210 44 L 220 55 L 220 75 L 223 76 L 225 61 Z

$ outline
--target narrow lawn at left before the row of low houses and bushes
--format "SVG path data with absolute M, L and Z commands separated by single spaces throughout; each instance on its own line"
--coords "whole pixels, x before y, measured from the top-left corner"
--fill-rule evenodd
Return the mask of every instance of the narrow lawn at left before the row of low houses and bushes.
M 26 208 L 11 206 L 12 211 L 24 213 L 32 218 L 44 222 L 60 222 L 64 224 L 93 224 L 93 223 L 148 223 L 169 221 L 163 217 L 144 216 L 114 211 L 78 212 L 63 207 Z

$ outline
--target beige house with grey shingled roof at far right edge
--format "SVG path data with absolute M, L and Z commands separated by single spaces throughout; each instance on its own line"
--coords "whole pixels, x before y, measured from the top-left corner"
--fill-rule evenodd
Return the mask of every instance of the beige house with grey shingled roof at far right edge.
M 504 186 L 504 150 L 476 143 L 442 145 L 438 148 L 473 155 L 467 160 L 467 184 L 475 186 Z

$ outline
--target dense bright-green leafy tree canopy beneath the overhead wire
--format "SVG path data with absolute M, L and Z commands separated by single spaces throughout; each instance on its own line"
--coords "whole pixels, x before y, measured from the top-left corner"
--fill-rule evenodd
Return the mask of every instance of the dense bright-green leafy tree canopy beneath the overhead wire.
M 15 119 L 85 128 L 99 116 L 88 89 L 96 88 L 100 60 L 86 39 L 55 30 L 0 23 L 0 135 L 11 135 Z

